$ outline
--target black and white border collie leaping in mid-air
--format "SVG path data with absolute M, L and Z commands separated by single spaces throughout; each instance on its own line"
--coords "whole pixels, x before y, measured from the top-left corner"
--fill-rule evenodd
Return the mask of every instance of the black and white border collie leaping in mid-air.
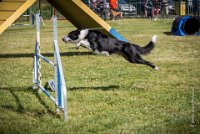
M 62 40 L 65 43 L 75 43 L 77 49 L 82 46 L 97 54 L 104 54 L 107 56 L 114 53 L 120 54 L 131 63 L 145 64 L 158 71 L 159 68 L 156 65 L 141 57 L 141 55 L 150 53 L 154 48 L 156 38 L 157 36 L 154 35 L 146 46 L 140 47 L 133 43 L 110 38 L 98 30 L 78 29 L 71 31 L 67 36 L 63 37 Z

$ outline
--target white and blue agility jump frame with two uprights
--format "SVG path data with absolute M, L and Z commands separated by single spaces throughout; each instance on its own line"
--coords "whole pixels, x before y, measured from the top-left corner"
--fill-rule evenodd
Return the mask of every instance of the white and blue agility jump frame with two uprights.
M 37 39 L 35 45 L 35 54 L 33 62 L 33 83 L 34 87 L 40 89 L 55 105 L 57 106 L 57 112 L 64 112 L 64 120 L 68 118 L 67 115 L 67 88 L 64 79 L 64 73 L 62 69 L 62 62 L 60 58 L 60 52 L 58 47 L 58 33 L 57 33 L 57 17 L 53 17 L 53 48 L 54 48 L 54 62 L 40 53 L 40 18 L 39 14 L 36 14 L 36 32 Z M 41 60 L 52 65 L 54 68 L 54 80 L 51 82 L 51 86 L 55 87 L 55 97 L 53 97 L 41 84 Z

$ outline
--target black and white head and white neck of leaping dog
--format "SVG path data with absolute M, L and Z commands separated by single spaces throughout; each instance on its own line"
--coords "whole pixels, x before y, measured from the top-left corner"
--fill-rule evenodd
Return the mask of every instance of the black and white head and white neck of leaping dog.
M 82 29 L 82 30 L 77 29 L 68 33 L 68 35 L 63 37 L 62 40 L 65 43 L 67 42 L 78 43 L 87 36 L 88 32 L 89 32 L 88 29 Z

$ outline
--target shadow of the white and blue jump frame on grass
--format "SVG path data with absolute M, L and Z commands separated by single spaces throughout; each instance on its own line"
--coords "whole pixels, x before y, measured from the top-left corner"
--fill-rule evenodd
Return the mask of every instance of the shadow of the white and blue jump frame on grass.
M 52 109 L 45 103 L 44 99 L 42 99 L 42 97 L 38 94 L 38 90 L 33 90 L 32 87 L 0 87 L 0 90 L 1 91 L 2 90 L 9 91 L 11 93 L 11 95 L 14 97 L 16 105 L 17 105 L 17 108 L 15 108 L 14 106 L 11 106 L 9 104 L 1 106 L 5 109 L 10 109 L 12 111 L 16 111 L 21 114 L 26 113 L 26 112 L 31 112 L 36 116 L 44 115 L 45 112 L 25 109 L 25 107 L 22 105 L 22 103 L 19 99 L 19 95 L 17 95 L 16 92 L 26 92 L 26 93 L 34 94 L 36 96 L 36 98 L 38 99 L 39 103 L 41 105 L 43 105 L 45 107 L 45 109 L 47 109 L 48 114 L 50 114 L 54 117 L 60 118 L 60 116 L 58 114 L 56 114 L 56 112 L 52 111 Z

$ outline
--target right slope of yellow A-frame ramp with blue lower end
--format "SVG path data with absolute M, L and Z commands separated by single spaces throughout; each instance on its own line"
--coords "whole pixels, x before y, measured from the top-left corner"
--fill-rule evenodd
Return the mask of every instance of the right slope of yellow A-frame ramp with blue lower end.
M 104 34 L 126 41 L 114 28 L 102 20 L 81 0 L 47 0 L 77 28 L 98 29 Z

